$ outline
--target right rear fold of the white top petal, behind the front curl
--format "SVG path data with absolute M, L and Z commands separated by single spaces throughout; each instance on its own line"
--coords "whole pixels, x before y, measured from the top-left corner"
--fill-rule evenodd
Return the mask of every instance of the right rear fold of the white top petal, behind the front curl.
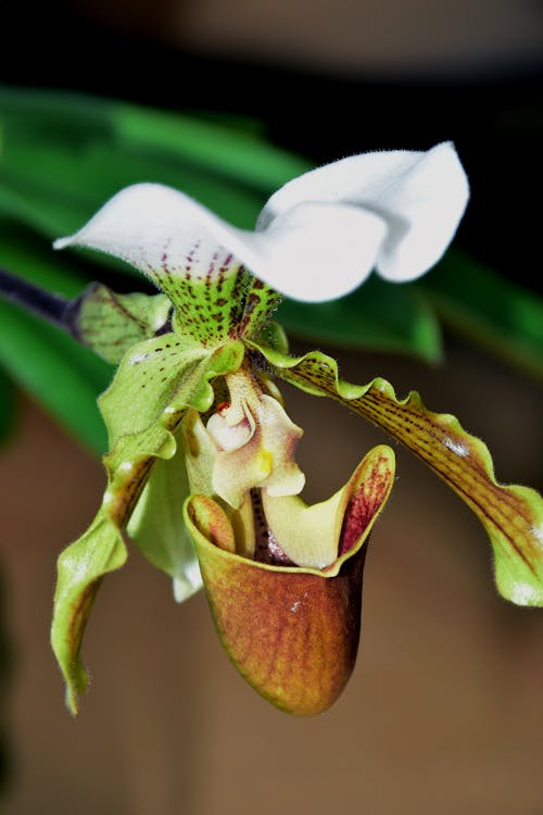
M 310 201 L 363 208 L 387 223 L 377 272 L 388 280 L 413 280 L 447 248 L 468 197 L 466 174 L 451 142 L 427 152 L 363 153 L 286 184 L 263 209 L 257 228 L 269 230 Z M 338 264 L 333 274 L 341 277 L 343 268 Z

